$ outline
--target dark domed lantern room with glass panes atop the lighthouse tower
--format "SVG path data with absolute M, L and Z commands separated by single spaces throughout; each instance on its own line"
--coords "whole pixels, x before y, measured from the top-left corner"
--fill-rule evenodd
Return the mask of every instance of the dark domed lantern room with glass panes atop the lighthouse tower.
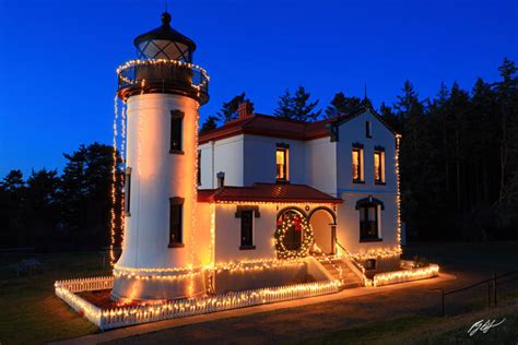
M 170 14 L 162 13 L 162 25 L 137 36 L 134 46 L 141 60 L 167 59 L 192 62 L 196 44 L 170 27 Z

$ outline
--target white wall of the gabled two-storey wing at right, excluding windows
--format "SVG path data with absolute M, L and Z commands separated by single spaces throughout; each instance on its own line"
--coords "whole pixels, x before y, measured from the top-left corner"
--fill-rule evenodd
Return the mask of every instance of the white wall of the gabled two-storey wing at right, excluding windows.
M 365 135 L 365 121 L 370 121 L 372 138 Z M 365 183 L 352 181 L 352 144 L 364 145 Z M 374 183 L 374 147 L 385 147 L 385 182 Z M 337 192 L 344 202 L 338 210 L 337 237 L 342 246 L 353 253 L 369 249 L 393 248 L 397 246 L 397 178 L 396 178 L 396 138 L 376 117 L 365 112 L 339 128 L 337 142 Z M 379 242 L 360 242 L 360 212 L 356 201 L 373 195 L 385 204 L 380 212 Z

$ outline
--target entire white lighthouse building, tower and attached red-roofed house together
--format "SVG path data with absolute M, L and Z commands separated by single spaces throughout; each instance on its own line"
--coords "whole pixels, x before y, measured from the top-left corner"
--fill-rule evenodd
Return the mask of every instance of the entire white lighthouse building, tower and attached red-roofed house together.
M 198 138 L 208 76 L 192 64 L 195 43 L 168 13 L 162 21 L 119 71 L 126 230 L 113 298 L 335 277 L 357 286 L 363 270 L 398 269 L 398 134 L 373 109 L 306 123 L 245 103 L 237 120 Z

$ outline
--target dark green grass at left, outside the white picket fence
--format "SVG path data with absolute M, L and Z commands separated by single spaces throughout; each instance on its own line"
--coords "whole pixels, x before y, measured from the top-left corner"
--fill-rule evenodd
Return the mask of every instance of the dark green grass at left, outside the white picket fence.
M 54 282 L 105 275 L 97 252 L 35 254 L 45 273 L 16 277 L 12 265 L 0 269 L 0 344 L 40 344 L 98 332 L 54 295 Z

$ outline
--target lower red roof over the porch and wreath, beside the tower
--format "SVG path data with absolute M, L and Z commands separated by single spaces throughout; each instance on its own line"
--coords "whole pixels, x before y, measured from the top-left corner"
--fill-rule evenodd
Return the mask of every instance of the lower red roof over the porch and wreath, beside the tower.
M 306 185 L 255 183 L 250 187 L 225 186 L 219 189 L 198 190 L 199 202 L 258 201 L 258 202 L 301 202 L 301 203 L 342 203 L 318 189 Z

